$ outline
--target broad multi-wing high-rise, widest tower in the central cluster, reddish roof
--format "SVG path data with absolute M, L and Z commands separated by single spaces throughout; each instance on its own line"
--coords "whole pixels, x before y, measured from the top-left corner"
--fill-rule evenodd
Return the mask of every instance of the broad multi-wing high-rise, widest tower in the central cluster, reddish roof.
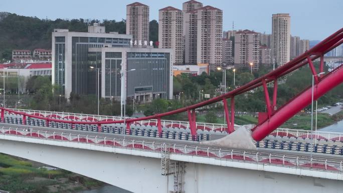
M 185 14 L 185 60 L 187 64 L 222 64 L 223 11 L 212 6 Z

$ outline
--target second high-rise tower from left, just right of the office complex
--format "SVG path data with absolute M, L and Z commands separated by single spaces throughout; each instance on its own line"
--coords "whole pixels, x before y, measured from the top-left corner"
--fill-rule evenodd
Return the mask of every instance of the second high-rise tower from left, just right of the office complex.
M 183 64 L 183 12 L 173 7 L 158 12 L 159 48 L 171 48 L 174 51 L 174 65 Z

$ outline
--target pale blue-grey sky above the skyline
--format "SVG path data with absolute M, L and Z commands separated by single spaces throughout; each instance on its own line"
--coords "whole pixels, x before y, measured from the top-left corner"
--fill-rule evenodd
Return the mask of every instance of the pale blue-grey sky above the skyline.
M 173 6 L 182 10 L 187 0 L 140 0 L 150 7 L 150 21 L 158 21 L 158 10 Z M 126 5 L 134 1 L 118 0 L 0 0 L 0 12 L 40 19 L 126 18 Z M 323 40 L 343 27 L 343 0 L 201 0 L 204 6 L 223 10 L 223 30 L 249 29 L 271 33 L 272 14 L 291 16 L 291 35 L 301 39 Z

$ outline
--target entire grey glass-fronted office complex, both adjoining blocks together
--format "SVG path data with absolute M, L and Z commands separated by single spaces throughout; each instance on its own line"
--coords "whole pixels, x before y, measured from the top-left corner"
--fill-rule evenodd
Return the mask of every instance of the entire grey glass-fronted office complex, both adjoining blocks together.
M 70 93 L 99 93 L 102 98 L 120 100 L 123 69 L 126 97 L 137 102 L 171 99 L 172 50 L 152 46 L 132 48 L 131 38 L 123 34 L 54 30 L 52 83 L 61 86 L 59 92 L 65 98 L 69 98 Z

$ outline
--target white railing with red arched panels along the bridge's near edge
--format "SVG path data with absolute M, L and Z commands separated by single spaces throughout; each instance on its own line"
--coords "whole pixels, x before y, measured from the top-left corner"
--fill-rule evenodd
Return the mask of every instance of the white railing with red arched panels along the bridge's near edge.
M 2 127 L 2 135 L 38 138 L 42 140 L 69 141 L 75 143 L 89 143 L 113 148 L 130 148 L 142 151 L 160 152 L 162 146 L 167 147 L 170 153 L 192 156 L 212 157 L 221 160 L 244 161 L 256 164 L 279 165 L 286 167 L 300 167 L 330 172 L 343 172 L 342 161 L 337 159 L 310 158 L 304 156 L 291 156 L 280 153 L 264 153 L 241 151 L 229 148 L 205 147 L 200 144 L 183 145 L 177 143 L 163 143 L 159 141 L 131 140 L 122 137 L 107 137 L 82 135 L 68 132 L 53 132 Z M 199 145 L 199 146 L 198 146 Z

